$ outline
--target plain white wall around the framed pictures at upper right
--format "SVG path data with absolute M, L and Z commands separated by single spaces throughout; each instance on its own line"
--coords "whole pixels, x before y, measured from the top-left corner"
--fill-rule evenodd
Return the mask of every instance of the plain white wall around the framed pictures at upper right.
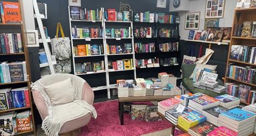
M 182 0 L 183 1 L 183 0 Z M 226 0 L 224 17 L 225 26 L 231 27 L 233 23 L 234 9 L 236 8 L 237 0 Z M 206 0 L 197 0 L 190 2 L 189 12 L 200 12 L 200 20 L 205 18 L 205 4 Z M 185 12 L 179 13 L 180 15 L 180 25 L 179 25 L 179 35 L 181 40 L 188 39 L 189 30 L 185 30 Z M 201 23 L 201 21 L 200 21 Z M 204 22 L 203 22 L 204 23 Z

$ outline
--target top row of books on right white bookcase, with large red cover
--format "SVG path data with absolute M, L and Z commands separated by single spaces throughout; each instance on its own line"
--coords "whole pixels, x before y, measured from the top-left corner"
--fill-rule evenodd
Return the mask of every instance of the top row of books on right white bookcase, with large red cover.
M 116 12 L 115 9 L 107 9 L 104 11 L 106 21 L 132 21 L 132 10 L 124 12 Z

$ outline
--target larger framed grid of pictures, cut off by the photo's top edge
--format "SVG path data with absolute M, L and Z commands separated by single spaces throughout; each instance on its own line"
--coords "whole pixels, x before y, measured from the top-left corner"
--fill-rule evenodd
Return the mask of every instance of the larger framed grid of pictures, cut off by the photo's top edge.
M 225 0 L 207 0 L 205 18 L 223 18 Z

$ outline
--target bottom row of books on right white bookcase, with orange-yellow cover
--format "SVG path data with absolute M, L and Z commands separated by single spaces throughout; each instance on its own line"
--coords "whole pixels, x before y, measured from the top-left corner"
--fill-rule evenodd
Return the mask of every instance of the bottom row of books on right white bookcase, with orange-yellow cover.
M 109 71 L 133 69 L 134 61 L 132 59 L 108 61 L 108 68 L 109 68 Z

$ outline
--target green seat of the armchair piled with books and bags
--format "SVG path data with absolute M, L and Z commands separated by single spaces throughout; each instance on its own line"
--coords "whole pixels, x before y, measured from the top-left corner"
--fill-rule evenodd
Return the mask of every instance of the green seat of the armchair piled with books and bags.
M 220 85 L 223 84 L 221 80 L 218 80 L 218 82 L 219 82 Z M 194 88 L 194 86 L 193 86 L 193 79 L 191 79 L 191 78 L 183 78 L 183 80 L 182 80 L 182 85 L 183 85 L 188 91 L 190 91 L 190 92 L 193 93 L 193 94 L 195 94 L 195 93 L 202 93 L 202 94 L 205 94 L 205 95 L 208 95 L 208 96 L 211 96 L 211 97 L 216 97 L 216 96 L 219 96 L 219 95 L 226 94 L 226 91 L 224 91 L 224 92 L 221 93 L 221 94 L 218 94 L 218 93 L 214 93 L 214 92 L 209 91 L 209 90 Z

